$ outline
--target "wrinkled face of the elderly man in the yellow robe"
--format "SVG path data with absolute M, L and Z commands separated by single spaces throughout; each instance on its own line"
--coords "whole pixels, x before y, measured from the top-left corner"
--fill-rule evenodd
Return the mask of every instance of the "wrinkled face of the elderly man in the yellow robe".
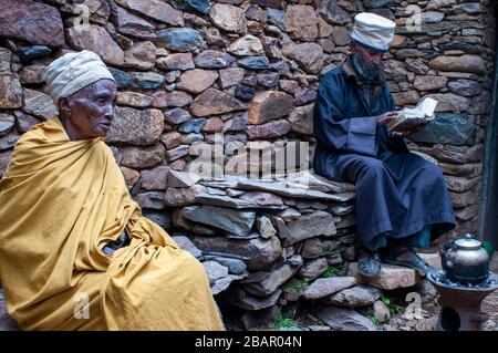
M 68 117 L 80 135 L 79 139 L 107 135 L 117 100 L 117 85 L 114 81 L 100 80 L 66 100 L 62 104 L 69 111 Z

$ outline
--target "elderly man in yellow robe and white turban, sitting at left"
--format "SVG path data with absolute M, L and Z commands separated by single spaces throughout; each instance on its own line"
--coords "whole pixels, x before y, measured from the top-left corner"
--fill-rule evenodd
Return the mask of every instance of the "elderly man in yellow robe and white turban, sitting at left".
M 117 86 L 98 55 L 46 72 L 59 115 L 0 181 L 0 281 L 24 330 L 224 330 L 203 266 L 142 216 L 105 145 Z

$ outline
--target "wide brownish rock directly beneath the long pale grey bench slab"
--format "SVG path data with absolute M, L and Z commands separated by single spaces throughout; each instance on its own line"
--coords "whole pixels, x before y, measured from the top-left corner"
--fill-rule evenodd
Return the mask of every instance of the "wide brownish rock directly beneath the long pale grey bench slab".
M 194 243 L 201 250 L 226 252 L 242 257 L 248 270 L 267 270 L 282 257 L 282 248 L 277 237 L 261 237 L 240 240 L 225 237 L 194 237 Z

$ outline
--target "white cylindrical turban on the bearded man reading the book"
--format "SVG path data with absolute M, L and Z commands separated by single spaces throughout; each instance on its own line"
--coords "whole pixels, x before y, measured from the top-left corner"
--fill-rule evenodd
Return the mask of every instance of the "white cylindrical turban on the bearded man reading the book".
M 361 12 L 354 17 L 351 39 L 369 48 L 386 51 L 394 39 L 396 23 L 382 15 Z

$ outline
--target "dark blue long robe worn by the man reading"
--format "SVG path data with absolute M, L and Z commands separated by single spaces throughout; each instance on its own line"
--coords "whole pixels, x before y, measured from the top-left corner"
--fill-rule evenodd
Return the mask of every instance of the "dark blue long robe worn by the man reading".
M 402 137 L 390 137 L 376 116 L 395 110 L 385 84 L 362 94 L 346 61 L 328 72 L 314 104 L 315 173 L 356 188 L 356 232 L 362 243 L 376 236 L 402 239 L 430 229 L 430 240 L 455 227 L 439 167 L 409 153 Z M 427 228 L 429 227 L 429 228 Z

